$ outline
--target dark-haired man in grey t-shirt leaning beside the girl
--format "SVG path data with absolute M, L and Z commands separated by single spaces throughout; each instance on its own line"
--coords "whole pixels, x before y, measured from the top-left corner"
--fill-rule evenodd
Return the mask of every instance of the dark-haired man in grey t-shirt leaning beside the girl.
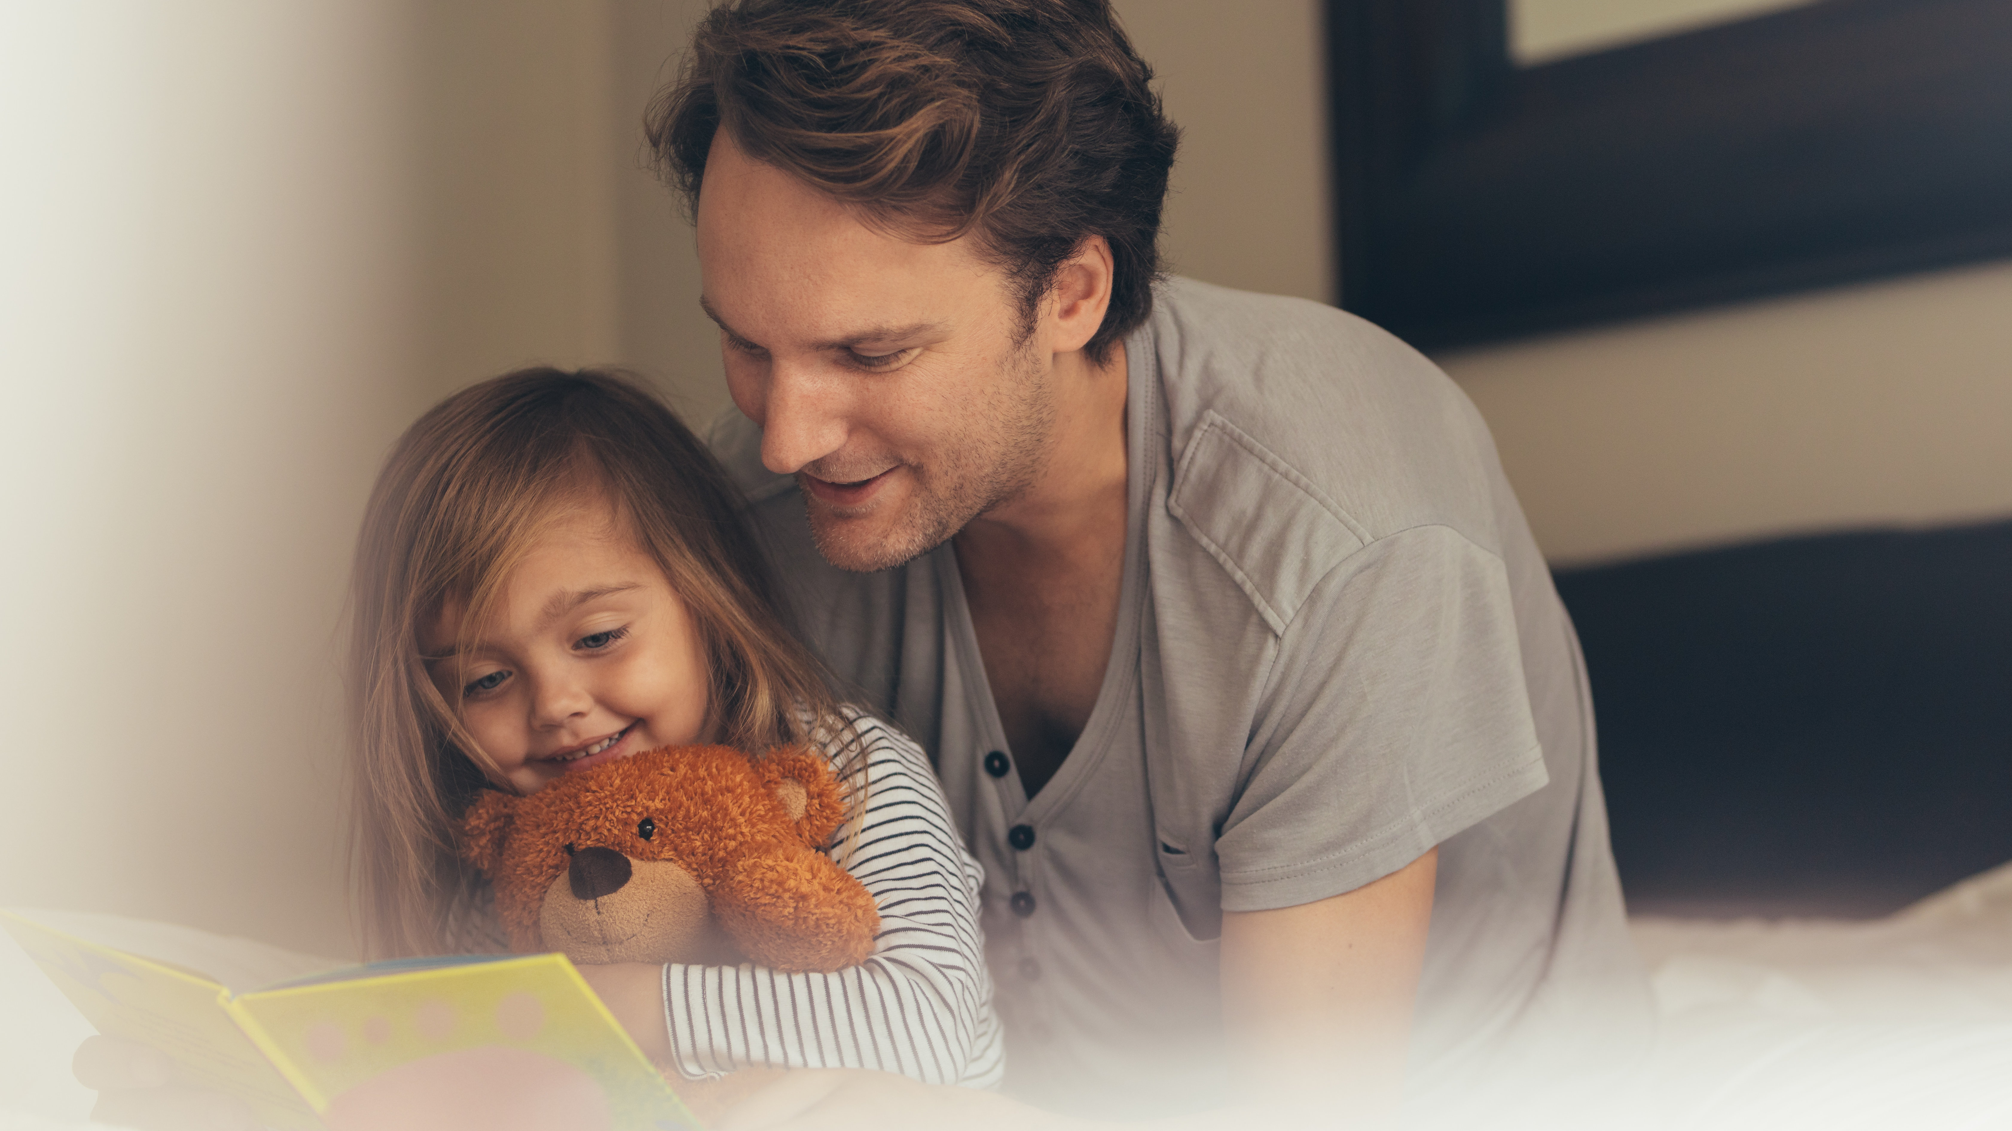
M 1155 286 L 1147 83 L 1107 0 L 742 0 L 652 109 L 716 449 L 986 865 L 1008 1095 L 1376 1113 L 1632 1051 L 1577 644 L 1483 423 L 1346 314 Z

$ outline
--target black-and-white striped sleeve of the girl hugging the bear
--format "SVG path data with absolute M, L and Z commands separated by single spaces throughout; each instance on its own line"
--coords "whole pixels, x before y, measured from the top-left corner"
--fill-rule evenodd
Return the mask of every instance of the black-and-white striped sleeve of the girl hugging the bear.
M 879 904 L 873 954 L 835 974 L 664 966 L 664 1020 L 686 1079 L 769 1065 L 996 1087 L 1004 1073 L 978 932 L 984 873 L 924 753 L 867 714 L 855 716 L 855 731 L 865 813 L 851 851 L 841 855 L 841 829 L 831 853 Z

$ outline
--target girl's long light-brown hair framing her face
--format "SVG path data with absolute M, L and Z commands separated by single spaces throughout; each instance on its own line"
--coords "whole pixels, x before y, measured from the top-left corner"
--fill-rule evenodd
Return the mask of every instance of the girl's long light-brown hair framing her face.
M 527 368 L 465 388 L 392 449 L 356 541 L 350 861 L 372 956 L 467 948 L 485 896 L 453 821 L 495 767 L 427 676 L 421 630 L 451 606 L 465 646 L 539 533 L 596 499 L 698 626 L 722 743 L 759 753 L 853 735 L 785 626 L 738 493 L 662 400 L 598 370 Z

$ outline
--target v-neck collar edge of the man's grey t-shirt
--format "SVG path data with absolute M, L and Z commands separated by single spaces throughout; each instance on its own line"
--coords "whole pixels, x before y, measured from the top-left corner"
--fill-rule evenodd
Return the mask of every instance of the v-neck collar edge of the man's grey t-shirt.
M 1038 823 L 1068 805 L 1068 799 L 1095 773 L 1111 749 L 1113 733 L 1133 714 L 1131 698 L 1139 686 L 1139 622 L 1145 602 L 1145 499 L 1159 477 L 1159 449 L 1149 441 L 1155 435 L 1151 417 L 1157 411 L 1155 390 L 1159 388 L 1159 358 L 1151 344 L 1151 330 L 1141 328 L 1123 344 L 1125 356 L 1125 561 L 1119 584 L 1119 620 L 1111 634 L 1111 658 L 1105 660 L 1105 678 L 1097 686 L 1097 704 L 1091 718 L 1068 749 L 1068 757 L 1056 767 L 1054 777 L 1034 795 L 1026 797 L 1020 781 L 1018 755 L 1014 771 L 1004 775 L 1000 801 L 1012 823 Z M 964 686 L 970 718 L 984 741 L 996 751 L 1012 753 L 1006 745 L 1006 724 L 1000 722 L 998 702 L 992 698 L 992 680 L 986 676 L 986 662 L 978 650 L 978 630 L 972 626 L 972 608 L 964 598 L 964 576 L 958 572 L 958 553 L 950 543 L 936 551 L 938 580 L 944 588 L 944 636 L 954 648 L 960 664 L 972 676 Z M 948 688 L 946 688 L 948 692 Z M 948 714 L 952 704 L 944 704 Z

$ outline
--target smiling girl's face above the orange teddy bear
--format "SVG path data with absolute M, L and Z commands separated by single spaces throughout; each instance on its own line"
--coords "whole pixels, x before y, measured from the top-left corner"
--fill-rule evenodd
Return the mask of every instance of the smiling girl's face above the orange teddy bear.
M 664 572 L 606 503 L 555 523 L 449 656 L 463 610 L 425 628 L 427 670 L 519 793 L 714 735 L 706 650 Z M 457 686 L 459 682 L 459 686 Z

